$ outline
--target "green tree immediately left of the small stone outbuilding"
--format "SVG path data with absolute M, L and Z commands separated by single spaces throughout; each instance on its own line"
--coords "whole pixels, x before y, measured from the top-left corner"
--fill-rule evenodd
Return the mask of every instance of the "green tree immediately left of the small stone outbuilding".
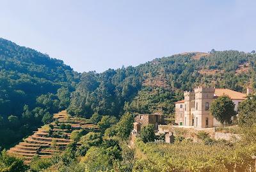
M 132 128 L 133 128 L 134 117 L 131 113 L 125 113 L 120 121 L 116 124 L 116 135 L 120 138 L 129 138 Z

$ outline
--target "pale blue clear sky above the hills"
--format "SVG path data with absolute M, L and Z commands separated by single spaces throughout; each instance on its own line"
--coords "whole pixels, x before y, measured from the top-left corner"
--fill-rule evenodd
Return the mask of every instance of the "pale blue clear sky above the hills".
M 180 52 L 256 49 L 256 1 L 0 0 L 0 37 L 102 72 Z

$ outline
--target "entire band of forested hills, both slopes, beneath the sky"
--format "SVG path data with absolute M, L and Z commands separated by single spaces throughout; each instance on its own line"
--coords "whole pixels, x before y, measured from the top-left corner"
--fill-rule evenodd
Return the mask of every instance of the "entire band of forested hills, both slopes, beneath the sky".
M 63 61 L 0 39 L 0 144 L 19 141 L 65 108 L 86 118 L 120 118 L 125 112 L 172 117 L 174 102 L 197 85 L 237 91 L 245 91 L 248 84 L 255 87 L 255 57 L 212 50 L 79 74 Z

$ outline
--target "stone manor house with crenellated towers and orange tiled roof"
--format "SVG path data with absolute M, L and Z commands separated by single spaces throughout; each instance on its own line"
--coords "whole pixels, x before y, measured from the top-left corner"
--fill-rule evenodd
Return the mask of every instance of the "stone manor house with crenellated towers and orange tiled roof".
M 247 89 L 247 94 L 252 92 Z M 220 122 L 214 118 L 209 108 L 214 99 L 223 95 L 229 96 L 235 104 L 246 98 L 246 94 L 230 89 L 215 89 L 213 87 L 196 87 L 193 91 L 184 92 L 184 100 L 175 103 L 175 123 L 196 128 L 216 127 Z

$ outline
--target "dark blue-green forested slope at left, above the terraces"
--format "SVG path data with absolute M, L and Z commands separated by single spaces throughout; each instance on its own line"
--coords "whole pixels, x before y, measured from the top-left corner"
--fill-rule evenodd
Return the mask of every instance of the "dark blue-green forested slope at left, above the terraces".
M 78 80 L 63 61 L 0 38 L 0 147 L 67 108 Z

